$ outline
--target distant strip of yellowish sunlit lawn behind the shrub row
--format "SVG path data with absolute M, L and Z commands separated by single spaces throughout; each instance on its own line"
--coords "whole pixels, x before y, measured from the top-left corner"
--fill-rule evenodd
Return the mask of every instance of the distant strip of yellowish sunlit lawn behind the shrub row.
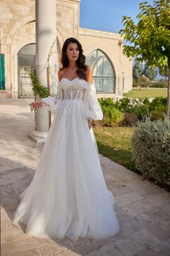
M 123 93 L 124 97 L 130 98 L 156 98 L 156 97 L 167 97 L 167 89 L 150 89 L 142 88 L 133 88 L 129 93 Z

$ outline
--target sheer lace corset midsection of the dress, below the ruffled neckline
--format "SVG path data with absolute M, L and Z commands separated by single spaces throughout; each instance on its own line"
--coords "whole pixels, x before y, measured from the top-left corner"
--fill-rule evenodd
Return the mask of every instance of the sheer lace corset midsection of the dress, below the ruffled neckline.
M 84 89 L 83 88 L 74 88 L 70 86 L 69 88 L 65 88 L 64 90 L 64 99 L 69 101 L 82 101 L 84 97 Z

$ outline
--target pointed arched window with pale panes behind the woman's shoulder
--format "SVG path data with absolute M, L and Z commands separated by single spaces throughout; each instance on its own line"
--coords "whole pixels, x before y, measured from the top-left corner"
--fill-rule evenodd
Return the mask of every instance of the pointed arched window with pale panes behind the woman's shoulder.
M 86 56 L 86 63 L 92 69 L 97 93 L 115 93 L 115 72 L 107 56 L 97 49 Z

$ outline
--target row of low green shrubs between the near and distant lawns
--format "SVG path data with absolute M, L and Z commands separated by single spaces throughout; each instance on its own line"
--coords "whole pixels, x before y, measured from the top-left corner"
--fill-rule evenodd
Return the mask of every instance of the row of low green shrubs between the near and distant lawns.
M 104 120 L 95 124 L 115 126 L 124 120 L 123 124 L 133 126 L 138 120 L 151 115 L 151 120 L 164 119 L 166 113 L 166 98 L 122 98 L 114 102 L 112 98 L 99 98 L 99 104 L 104 112 Z M 121 114 L 120 114 L 121 113 Z

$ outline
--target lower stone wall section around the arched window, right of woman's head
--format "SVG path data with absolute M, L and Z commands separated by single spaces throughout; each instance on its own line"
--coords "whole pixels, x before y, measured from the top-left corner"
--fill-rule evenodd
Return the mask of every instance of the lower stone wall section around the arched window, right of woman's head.
M 107 55 L 116 77 L 116 92 L 113 97 L 122 96 L 122 90 L 128 92 L 132 88 L 132 61 L 122 54 L 122 38 L 120 34 L 99 30 L 79 29 L 79 40 L 87 56 L 91 51 L 100 49 Z M 124 80 L 124 85 L 123 85 Z M 105 95 L 110 97 L 111 94 Z M 103 96 L 103 95 L 102 95 Z

